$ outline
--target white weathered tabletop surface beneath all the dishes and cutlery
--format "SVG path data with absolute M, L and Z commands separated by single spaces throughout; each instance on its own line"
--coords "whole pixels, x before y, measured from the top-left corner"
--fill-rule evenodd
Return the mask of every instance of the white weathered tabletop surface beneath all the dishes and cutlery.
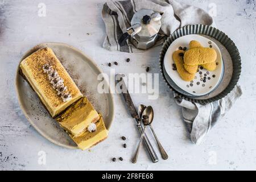
M 38 16 L 38 4 L 46 4 L 46 17 Z M 153 164 L 141 150 L 137 164 L 130 162 L 139 134 L 119 95 L 115 95 L 115 121 L 109 138 L 91 151 L 68 150 L 44 139 L 24 117 L 15 94 L 14 78 L 20 57 L 38 43 L 63 42 L 93 57 L 106 73 L 109 61 L 117 60 L 118 72 L 144 72 L 142 64 L 159 73 L 160 47 L 139 55 L 109 52 L 101 47 L 105 26 L 101 8 L 105 1 L 14 1 L 0 0 L 0 169 L 255 169 L 256 168 L 256 35 L 255 2 L 249 0 L 183 2 L 209 10 L 216 3 L 217 27 L 237 44 L 242 57 L 240 84 L 243 96 L 209 133 L 201 146 L 188 138 L 181 121 L 180 107 L 160 82 L 156 101 L 133 94 L 135 105 L 143 102 L 155 109 L 154 128 L 169 154 L 168 160 Z M 130 57 L 131 63 L 125 59 Z M 161 79 L 161 78 L 160 78 Z M 125 135 L 127 148 L 120 139 Z M 152 143 L 154 140 L 152 140 Z M 39 151 L 46 152 L 46 164 L 40 165 Z M 159 154 L 159 153 L 158 153 Z M 123 162 L 113 163 L 113 157 Z M 159 155 L 160 158 L 160 155 Z

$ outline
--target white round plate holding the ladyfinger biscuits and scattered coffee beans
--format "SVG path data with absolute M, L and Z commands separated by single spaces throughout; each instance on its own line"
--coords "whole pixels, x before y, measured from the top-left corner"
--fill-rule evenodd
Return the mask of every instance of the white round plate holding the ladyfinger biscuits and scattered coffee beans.
M 191 82 L 184 81 L 181 79 L 179 76 L 179 73 L 175 70 L 173 70 L 173 64 L 174 64 L 174 59 L 172 59 L 172 54 L 179 49 L 179 47 L 187 47 L 189 48 L 189 42 L 191 40 L 196 40 L 201 43 L 203 47 L 209 47 L 212 45 L 212 48 L 215 49 L 217 52 L 217 60 L 216 62 L 218 63 L 217 68 L 214 71 L 207 71 L 206 69 L 200 69 L 199 72 L 196 73 L 195 79 Z M 204 96 L 206 94 L 209 94 L 212 92 L 218 84 L 220 83 L 222 79 L 222 75 L 224 73 L 224 64 L 222 61 L 221 57 L 221 52 L 218 46 L 210 39 L 207 39 L 203 36 L 200 35 L 185 35 L 182 36 L 181 38 L 176 39 L 170 47 L 168 48 L 166 55 L 164 56 L 164 68 L 166 69 L 167 74 L 170 76 L 172 81 L 175 82 L 179 88 L 184 90 L 185 92 L 191 94 L 192 96 Z M 200 75 L 201 72 L 201 75 Z M 205 74 L 207 74 L 205 76 Z M 203 82 L 201 80 L 202 77 L 207 77 L 207 81 Z M 215 76 L 215 77 L 213 77 Z M 208 77 L 210 79 L 208 79 Z M 199 83 L 199 85 L 197 85 Z M 184 93 L 183 93 L 184 94 Z

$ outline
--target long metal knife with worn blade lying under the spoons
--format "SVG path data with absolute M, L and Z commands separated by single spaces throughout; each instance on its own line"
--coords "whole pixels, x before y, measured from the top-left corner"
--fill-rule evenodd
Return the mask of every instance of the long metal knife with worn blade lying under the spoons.
M 139 119 L 139 115 L 138 115 L 138 113 L 137 113 L 137 109 L 135 108 L 135 106 L 134 106 L 134 104 L 133 104 L 133 101 L 131 100 L 131 96 L 130 96 L 130 94 L 129 94 L 129 92 L 128 92 L 128 89 L 127 89 L 127 87 L 126 87 L 125 81 L 123 81 L 123 79 L 122 79 L 124 75 L 118 74 L 118 75 L 116 75 L 116 76 L 118 76 L 118 77 L 120 78 L 119 80 L 117 79 L 117 82 L 121 82 L 121 81 L 122 81 L 122 88 L 121 88 L 121 90 L 122 90 L 123 98 L 125 98 L 125 103 L 126 103 L 128 109 L 129 109 L 130 113 L 131 113 L 131 117 L 133 117 L 133 118 L 135 119 L 136 124 L 137 124 L 137 128 L 138 128 L 138 130 L 139 130 L 139 131 L 141 132 L 141 134 L 142 134 L 142 132 L 143 132 L 143 127 L 142 127 L 142 125 L 141 125 L 141 122 L 140 122 L 140 119 Z M 123 91 L 125 91 L 125 92 L 123 92 Z M 149 154 L 150 154 L 150 157 L 151 157 L 151 159 L 152 159 L 152 162 L 153 162 L 153 163 L 158 162 L 158 161 L 159 161 L 158 156 L 156 155 L 155 150 L 154 150 L 154 148 L 152 147 L 152 145 L 151 145 L 151 143 L 150 143 L 150 140 L 148 140 L 146 134 L 144 134 L 143 142 L 144 142 L 144 144 L 145 144 L 146 147 L 147 147 L 147 151 L 148 151 Z

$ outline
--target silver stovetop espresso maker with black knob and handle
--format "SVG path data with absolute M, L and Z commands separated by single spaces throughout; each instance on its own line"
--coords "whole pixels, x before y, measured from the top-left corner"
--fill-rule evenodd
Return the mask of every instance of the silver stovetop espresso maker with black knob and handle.
M 138 49 L 148 49 L 154 46 L 158 39 L 158 32 L 161 27 L 160 13 L 153 10 L 142 9 L 133 15 L 131 27 L 127 28 L 118 43 L 124 46 L 127 39 Z

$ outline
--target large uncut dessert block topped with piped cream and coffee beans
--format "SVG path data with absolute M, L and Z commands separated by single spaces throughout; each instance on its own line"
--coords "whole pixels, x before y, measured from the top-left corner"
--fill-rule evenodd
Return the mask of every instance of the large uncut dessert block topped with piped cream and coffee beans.
M 20 63 L 20 71 L 52 117 L 82 97 L 79 88 L 51 48 L 42 48 L 32 53 Z

